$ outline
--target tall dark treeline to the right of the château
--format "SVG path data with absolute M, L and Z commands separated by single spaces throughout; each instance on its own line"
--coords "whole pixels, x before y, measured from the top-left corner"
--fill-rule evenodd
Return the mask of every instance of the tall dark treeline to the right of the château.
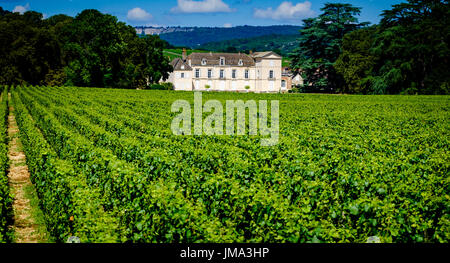
M 444 0 L 408 0 L 379 25 L 359 23 L 361 8 L 328 3 L 304 20 L 291 54 L 304 92 L 450 94 L 450 9 Z

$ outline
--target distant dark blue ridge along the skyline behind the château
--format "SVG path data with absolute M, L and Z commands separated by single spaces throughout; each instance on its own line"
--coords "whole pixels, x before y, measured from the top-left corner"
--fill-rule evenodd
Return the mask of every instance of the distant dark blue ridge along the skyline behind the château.
M 198 48 L 210 43 L 232 39 L 253 38 L 267 35 L 298 35 L 300 26 L 238 26 L 232 28 L 224 27 L 196 27 L 188 31 L 177 31 L 161 33 L 161 39 L 166 40 L 173 46 L 185 46 Z

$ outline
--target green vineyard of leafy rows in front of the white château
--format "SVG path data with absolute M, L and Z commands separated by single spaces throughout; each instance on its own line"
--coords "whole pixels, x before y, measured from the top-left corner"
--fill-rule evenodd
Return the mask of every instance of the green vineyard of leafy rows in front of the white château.
M 263 147 L 258 136 L 173 135 L 171 104 L 193 103 L 190 92 L 5 92 L 0 139 L 9 103 L 60 242 L 450 240 L 448 96 L 203 94 L 279 100 L 279 144 Z

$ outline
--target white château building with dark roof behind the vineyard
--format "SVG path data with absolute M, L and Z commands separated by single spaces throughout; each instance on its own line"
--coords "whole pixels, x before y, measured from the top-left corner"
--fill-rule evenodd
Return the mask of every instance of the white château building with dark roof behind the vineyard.
M 192 53 L 171 62 L 174 71 L 168 82 L 175 90 L 286 92 L 282 57 L 274 52 Z

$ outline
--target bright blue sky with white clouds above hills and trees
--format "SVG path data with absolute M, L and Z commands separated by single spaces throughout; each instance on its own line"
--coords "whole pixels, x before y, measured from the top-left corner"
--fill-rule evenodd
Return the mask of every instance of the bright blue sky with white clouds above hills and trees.
M 130 25 L 239 26 L 301 25 L 320 14 L 326 2 L 362 7 L 360 21 L 378 23 L 382 10 L 406 0 L 0 0 L 6 10 L 33 10 L 46 17 L 75 16 L 84 9 L 115 15 Z

